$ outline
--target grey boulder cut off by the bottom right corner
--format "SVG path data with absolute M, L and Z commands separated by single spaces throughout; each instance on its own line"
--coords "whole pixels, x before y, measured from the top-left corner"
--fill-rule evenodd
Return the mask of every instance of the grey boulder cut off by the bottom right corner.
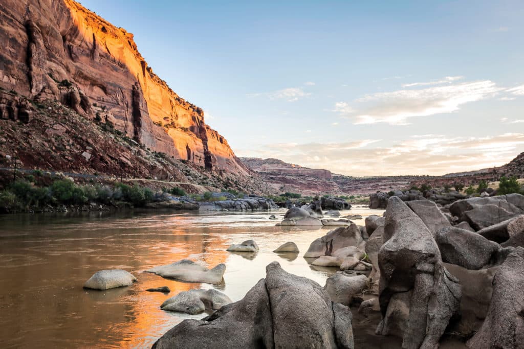
M 467 342 L 475 349 L 524 346 L 524 249 L 517 247 L 493 278 L 493 296 L 482 327 Z

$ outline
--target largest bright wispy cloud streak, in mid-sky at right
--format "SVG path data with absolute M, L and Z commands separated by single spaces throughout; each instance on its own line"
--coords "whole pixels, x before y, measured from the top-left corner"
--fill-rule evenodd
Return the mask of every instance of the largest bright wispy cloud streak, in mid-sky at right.
M 332 110 L 351 118 L 355 124 L 409 125 L 409 118 L 450 113 L 466 103 L 493 97 L 503 90 L 490 80 L 452 83 L 458 78 L 446 78 L 445 81 L 451 83 L 443 86 L 365 95 L 356 99 L 353 106 L 337 102 Z

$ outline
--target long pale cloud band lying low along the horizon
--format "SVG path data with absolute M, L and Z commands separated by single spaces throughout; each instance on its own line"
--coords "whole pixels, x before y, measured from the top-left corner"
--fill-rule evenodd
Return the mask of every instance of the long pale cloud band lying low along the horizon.
M 524 133 L 493 137 L 424 134 L 397 141 L 390 147 L 382 142 L 366 139 L 341 143 L 280 143 L 257 150 L 238 150 L 237 155 L 274 157 L 350 176 L 389 176 L 481 170 L 504 165 L 524 151 Z

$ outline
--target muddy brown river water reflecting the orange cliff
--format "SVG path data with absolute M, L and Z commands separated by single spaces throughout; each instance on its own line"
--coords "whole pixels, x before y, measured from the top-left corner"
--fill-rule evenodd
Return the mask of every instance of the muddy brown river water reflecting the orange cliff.
M 342 215 L 382 212 L 357 207 Z M 265 267 L 272 261 L 323 286 L 336 269 L 315 269 L 302 255 L 329 229 L 276 227 L 268 219 L 283 213 L 0 216 L 0 347 L 150 347 L 180 321 L 205 316 L 162 311 L 164 300 L 180 291 L 212 287 L 233 301 L 242 299 L 265 277 Z M 248 239 L 259 245 L 256 255 L 226 252 L 230 244 Z M 297 243 L 298 256 L 271 252 L 287 241 Z M 225 263 L 224 283 L 183 283 L 144 273 L 182 258 L 210 267 Z M 111 268 L 133 273 L 138 282 L 106 291 L 82 288 L 93 273 Z M 146 291 L 160 286 L 169 286 L 171 293 Z M 395 337 L 374 335 L 378 319 L 379 314 L 368 318 L 355 314 L 356 347 L 400 347 Z

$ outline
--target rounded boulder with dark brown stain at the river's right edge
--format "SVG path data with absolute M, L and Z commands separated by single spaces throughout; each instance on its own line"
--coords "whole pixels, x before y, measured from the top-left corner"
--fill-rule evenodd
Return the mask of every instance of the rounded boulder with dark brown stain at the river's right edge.
M 360 228 L 355 223 L 348 227 L 336 228 L 309 246 L 304 257 L 331 256 L 336 250 L 347 246 L 358 246 L 363 241 Z

